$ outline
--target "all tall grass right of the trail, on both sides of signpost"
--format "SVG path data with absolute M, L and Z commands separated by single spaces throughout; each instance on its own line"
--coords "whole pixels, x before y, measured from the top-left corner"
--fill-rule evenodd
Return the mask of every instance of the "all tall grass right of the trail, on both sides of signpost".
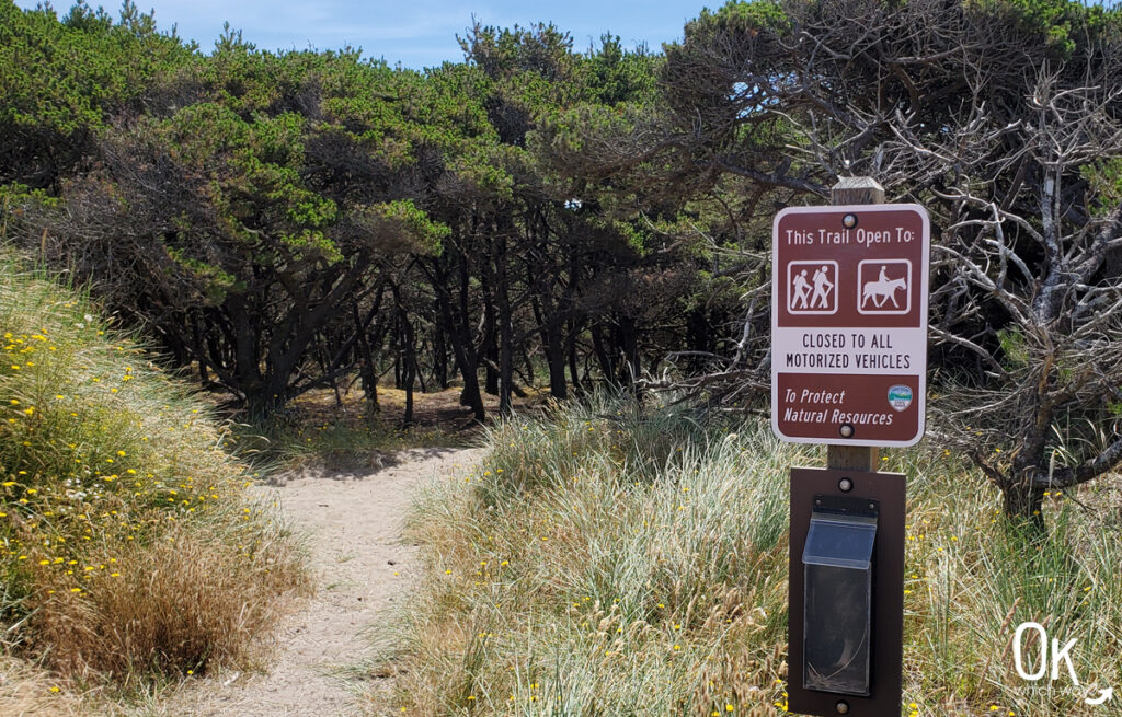
M 788 469 L 820 464 L 815 449 L 762 423 L 606 401 L 512 419 L 488 445 L 482 467 L 412 516 L 427 577 L 396 635 L 397 692 L 379 708 L 785 711 Z M 1116 481 L 1050 494 L 1041 536 L 1011 527 L 999 492 L 941 450 L 882 463 L 909 478 L 905 714 L 1122 714 L 1083 711 L 1094 686 L 1122 677 Z M 1017 677 L 1026 621 L 1078 640 L 1082 687 Z

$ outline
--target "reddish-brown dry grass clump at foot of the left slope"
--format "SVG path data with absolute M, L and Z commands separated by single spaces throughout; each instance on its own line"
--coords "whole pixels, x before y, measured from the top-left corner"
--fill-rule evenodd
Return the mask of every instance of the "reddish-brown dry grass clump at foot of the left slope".
M 251 662 L 306 576 L 285 540 L 242 550 L 230 537 L 174 527 L 126 549 L 119 577 L 99 570 L 86 593 L 33 604 L 28 646 L 59 673 L 118 681 Z

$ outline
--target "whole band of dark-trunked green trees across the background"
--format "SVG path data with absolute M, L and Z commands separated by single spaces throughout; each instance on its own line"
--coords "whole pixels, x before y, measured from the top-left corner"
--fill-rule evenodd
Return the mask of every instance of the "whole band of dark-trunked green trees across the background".
M 537 383 L 766 410 L 771 217 L 870 176 L 935 221 L 939 438 L 1031 516 L 1122 459 L 1120 30 L 1068 0 L 757 0 L 661 52 L 477 24 L 414 72 L 3 0 L 0 199 L 240 407 L 353 381 L 376 410 L 392 373 L 410 422 L 453 383 L 477 420 Z

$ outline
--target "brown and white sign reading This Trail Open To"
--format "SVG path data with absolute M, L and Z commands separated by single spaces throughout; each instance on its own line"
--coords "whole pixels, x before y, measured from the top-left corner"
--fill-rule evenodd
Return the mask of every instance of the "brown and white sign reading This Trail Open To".
M 789 207 L 772 234 L 772 429 L 783 440 L 923 437 L 931 225 L 917 204 Z

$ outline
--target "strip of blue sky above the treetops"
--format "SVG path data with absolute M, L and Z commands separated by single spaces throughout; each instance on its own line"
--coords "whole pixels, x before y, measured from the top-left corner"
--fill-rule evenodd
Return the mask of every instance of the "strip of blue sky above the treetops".
M 710 2 L 714 7 L 724 0 Z M 33 8 L 37 0 L 16 0 Z M 104 4 L 114 17 L 116 0 Z M 64 13 L 71 0 L 55 0 Z M 513 27 L 552 21 L 568 30 L 578 49 L 599 41 L 603 32 L 618 35 L 624 45 L 645 41 L 657 49 L 679 39 L 682 26 L 697 17 L 705 0 L 565 0 L 516 2 L 512 0 L 137 0 L 142 11 L 154 9 L 160 29 L 178 26 L 181 37 L 199 41 L 209 52 L 222 31 L 222 22 L 242 31 L 246 40 L 261 49 L 338 49 L 361 47 L 368 57 L 385 57 L 392 65 L 422 68 L 449 59 L 463 59 L 456 41 L 475 16 L 485 25 Z

